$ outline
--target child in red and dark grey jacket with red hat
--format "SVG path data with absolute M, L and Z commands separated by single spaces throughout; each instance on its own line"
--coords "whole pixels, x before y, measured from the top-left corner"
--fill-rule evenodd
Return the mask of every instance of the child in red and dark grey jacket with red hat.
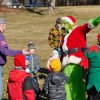
M 27 62 L 24 55 L 16 55 L 14 64 L 15 67 L 10 71 L 8 79 L 9 100 L 35 100 L 32 78 L 25 70 Z

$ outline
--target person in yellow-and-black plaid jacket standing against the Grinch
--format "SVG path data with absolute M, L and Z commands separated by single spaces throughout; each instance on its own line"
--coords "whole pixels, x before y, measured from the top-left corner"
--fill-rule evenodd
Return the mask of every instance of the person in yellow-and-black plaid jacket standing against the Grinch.
M 48 42 L 53 48 L 53 51 L 56 50 L 58 52 L 59 58 L 61 56 L 62 38 L 64 35 L 65 33 L 61 26 L 61 18 L 57 18 L 55 26 L 50 29 Z

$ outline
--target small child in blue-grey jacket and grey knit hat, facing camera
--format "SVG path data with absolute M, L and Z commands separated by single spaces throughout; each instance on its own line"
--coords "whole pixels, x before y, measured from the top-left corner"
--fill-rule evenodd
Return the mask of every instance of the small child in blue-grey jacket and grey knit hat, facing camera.
M 33 76 L 32 84 L 35 87 L 34 90 L 36 93 L 36 100 L 39 100 L 39 94 L 40 94 L 41 90 L 39 88 L 38 77 L 36 74 L 40 70 L 40 59 L 35 53 L 36 48 L 35 48 L 35 45 L 33 44 L 33 42 L 28 43 L 28 51 L 31 52 L 31 54 L 26 56 L 26 60 L 28 61 L 27 66 L 30 70 L 30 74 Z

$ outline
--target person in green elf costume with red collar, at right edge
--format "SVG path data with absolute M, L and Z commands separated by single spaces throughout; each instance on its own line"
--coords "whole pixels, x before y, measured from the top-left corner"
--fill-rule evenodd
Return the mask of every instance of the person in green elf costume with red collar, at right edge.
M 100 33 L 97 38 L 98 44 L 91 46 L 85 52 L 85 56 L 89 60 L 88 100 L 100 100 Z

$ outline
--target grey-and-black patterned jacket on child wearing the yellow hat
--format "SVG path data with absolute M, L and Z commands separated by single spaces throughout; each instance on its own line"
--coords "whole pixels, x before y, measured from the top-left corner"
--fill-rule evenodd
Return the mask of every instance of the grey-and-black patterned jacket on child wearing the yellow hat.
M 67 78 L 64 73 L 50 73 L 45 79 L 43 89 L 48 92 L 48 100 L 66 100 L 64 85 Z

